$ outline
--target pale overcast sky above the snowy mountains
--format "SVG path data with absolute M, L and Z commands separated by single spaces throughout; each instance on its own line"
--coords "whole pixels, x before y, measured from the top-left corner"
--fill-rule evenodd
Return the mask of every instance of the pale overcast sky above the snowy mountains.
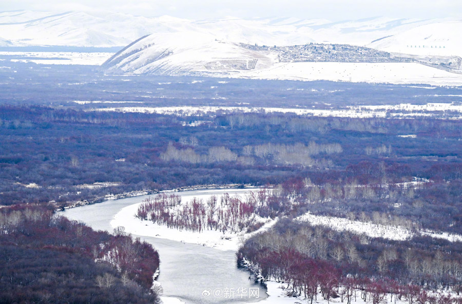
M 287 16 L 340 21 L 372 16 L 462 17 L 460 0 L 0 0 L 0 11 L 20 9 L 110 10 L 147 17 L 171 15 L 191 19 L 225 16 L 242 18 Z

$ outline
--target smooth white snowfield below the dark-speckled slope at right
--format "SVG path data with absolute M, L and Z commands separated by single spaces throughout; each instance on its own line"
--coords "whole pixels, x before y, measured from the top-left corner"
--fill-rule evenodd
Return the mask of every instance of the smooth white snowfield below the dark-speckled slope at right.
M 462 85 L 462 75 L 418 63 L 277 63 L 271 68 L 242 73 L 236 75 L 236 77 L 301 81 L 330 80 L 393 84 Z

